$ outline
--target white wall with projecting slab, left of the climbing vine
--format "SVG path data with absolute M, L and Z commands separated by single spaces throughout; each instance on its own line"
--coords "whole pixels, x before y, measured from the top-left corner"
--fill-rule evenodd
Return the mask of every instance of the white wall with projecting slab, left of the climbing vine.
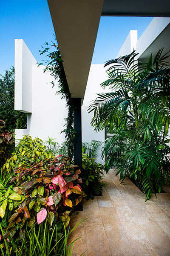
M 29 134 L 43 141 L 51 137 L 61 144 L 67 109 L 65 100 L 56 94 L 57 82 L 52 88 L 54 78 L 44 73 L 44 66 L 37 67 L 23 40 L 16 40 L 15 47 L 15 109 L 27 113 L 27 129 L 16 129 L 15 137 Z

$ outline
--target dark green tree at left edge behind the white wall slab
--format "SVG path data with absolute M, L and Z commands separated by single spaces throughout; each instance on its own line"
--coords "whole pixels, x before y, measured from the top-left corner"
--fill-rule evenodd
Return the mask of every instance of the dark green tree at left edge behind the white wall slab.
M 4 130 L 26 128 L 26 113 L 14 110 L 14 67 L 6 70 L 0 79 L 0 119 L 5 121 Z

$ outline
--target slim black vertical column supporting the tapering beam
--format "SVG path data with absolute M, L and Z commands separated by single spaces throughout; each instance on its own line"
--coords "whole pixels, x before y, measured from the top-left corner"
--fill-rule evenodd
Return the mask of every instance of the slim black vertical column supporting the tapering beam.
M 76 131 L 74 145 L 74 163 L 82 170 L 82 108 L 81 98 L 74 98 L 74 130 Z

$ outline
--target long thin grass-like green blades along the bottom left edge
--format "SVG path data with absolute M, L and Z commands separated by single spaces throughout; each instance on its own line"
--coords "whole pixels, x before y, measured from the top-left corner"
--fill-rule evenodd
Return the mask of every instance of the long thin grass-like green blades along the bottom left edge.
M 85 221 L 85 220 L 83 220 Z M 0 238 L 1 255 L 5 256 L 71 256 L 74 248 L 74 242 L 68 245 L 68 236 L 73 230 L 81 224 L 80 221 L 71 231 L 66 230 L 65 226 L 54 224 L 52 227 L 41 223 L 38 228 L 35 224 L 31 229 L 26 228 L 23 233 L 24 239 L 17 240 L 12 238 L 10 241 Z M 3 229 L 0 226 L 3 233 Z M 83 254 L 84 255 L 84 254 Z

